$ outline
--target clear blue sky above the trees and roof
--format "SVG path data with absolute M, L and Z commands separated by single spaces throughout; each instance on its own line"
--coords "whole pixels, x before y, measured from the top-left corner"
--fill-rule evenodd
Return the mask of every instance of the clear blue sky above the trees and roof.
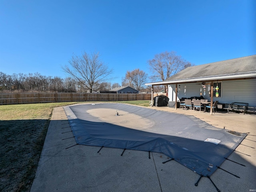
M 84 51 L 119 84 L 164 51 L 195 65 L 255 55 L 256 1 L 0 0 L 1 72 L 65 78 L 61 66 Z

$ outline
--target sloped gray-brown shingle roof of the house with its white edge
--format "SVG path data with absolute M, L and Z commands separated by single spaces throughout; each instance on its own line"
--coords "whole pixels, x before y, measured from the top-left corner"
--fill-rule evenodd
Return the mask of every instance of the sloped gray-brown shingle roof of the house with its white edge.
M 249 77 L 256 77 L 256 55 L 188 67 L 165 81 L 146 85 Z

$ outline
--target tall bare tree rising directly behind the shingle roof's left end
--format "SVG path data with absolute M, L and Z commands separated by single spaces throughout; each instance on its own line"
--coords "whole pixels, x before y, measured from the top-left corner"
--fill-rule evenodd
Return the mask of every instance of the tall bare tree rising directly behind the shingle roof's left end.
M 150 78 L 153 81 L 164 81 L 177 72 L 192 66 L 190 62 L 182 59 L 180 55 L 176 55 L 174 51 L 156 54 L 154 59 L 148 61 L 148 65 L 152 73 Z

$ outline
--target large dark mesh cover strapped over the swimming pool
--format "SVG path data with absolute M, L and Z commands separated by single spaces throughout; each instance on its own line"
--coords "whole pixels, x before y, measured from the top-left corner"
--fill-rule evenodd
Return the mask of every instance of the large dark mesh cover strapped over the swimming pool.
M 106 109 L 110 110 L 106 113 Z M 194 116 L 118 103 L 65 106 L 77 144 L 163 153 L 204 176 L 211 175 L 246 137 L 216 128 Z M 104 113 L 105 120 L 92 112 Z M 115 113 L 112 113 L 111 110 Z M 118 115 L 116 115 L 118 112 Z M 134 127 L 107 122 L 106 119 L 136 115 Z M 143 123 L 145 127 L 143 127 Z M 142 129 L 136 125 L 142 124 Z M 140 125 L 141 128 L 141 125 Z

